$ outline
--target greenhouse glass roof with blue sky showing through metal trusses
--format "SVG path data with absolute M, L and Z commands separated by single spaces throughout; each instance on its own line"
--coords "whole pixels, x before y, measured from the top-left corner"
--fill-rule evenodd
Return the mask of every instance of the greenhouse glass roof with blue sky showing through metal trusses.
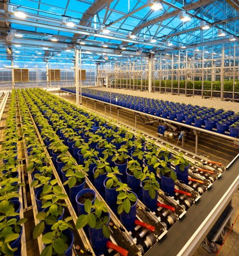
M 162 8 L 153 10 L 153 3 Z M 201 50 L 231 43 L 238 47 L 239 5 L 230 0 L 9 0 L 0 7 L 0 32 L 6 36 L 6 42 L 0 44 L 2 59 L 15 58 L 15 44 L 22 46 L 18 54 L 24 52 L 18 57 L 22 59 L 36 56 L 42 61 L 60 52 L 59 59 L 65 60 L 69 58 L 65 50 L 73 53 L 78 47 L 83 54 L 93 53 L 90 62 L 98 60 L 96 53 L 122 58 L 138 56 L 137 50 L 142 50 L 141 56 L 149 56 L 150 51 L 155 55 L 174 53 L 182 46 Z M 16 17 L 17 11 L 26 18 Z M 189 21 L 183 22 L 182 16 Z M 69 22 L 74 26 L 69 27 Z M 208 29 L 204 30 L 205 25 Z M 220 29 L 224 36 L 219 36 Z M 236 40 L 229 41 L 229 36 Z M 6 54 L 5 46 L 11 54 Z M 70 60 L 73 58 L 72 54 Z

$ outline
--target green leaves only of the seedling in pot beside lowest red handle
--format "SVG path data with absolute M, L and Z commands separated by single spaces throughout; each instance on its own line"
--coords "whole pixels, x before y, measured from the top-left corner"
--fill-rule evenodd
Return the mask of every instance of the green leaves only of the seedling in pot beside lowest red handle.
M 101 229 L 104 237 L 110 237 L 109 230 L 109 213 L 106 208 L 105 202 L 102 202 L 96 198 L 94 205 L 87 199 L 84 204 L 85 212 L 87 214 L 81 214 L 76 221 L 76 229 L 81 229 L 86 225 L 89 225 L 92 229 Z

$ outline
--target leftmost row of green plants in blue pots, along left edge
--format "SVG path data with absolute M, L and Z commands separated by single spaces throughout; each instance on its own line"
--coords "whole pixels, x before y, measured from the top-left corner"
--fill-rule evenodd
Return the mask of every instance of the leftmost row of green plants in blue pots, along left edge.
M 17 94 L 13 90 L 10 96 L 9 112 L 4 130 L 4 141 L 0 159 L 0 255 L 18 256 L 21 254 L 22 224 L 27 220 L 20 218 L 20 183 L 17 159 Z

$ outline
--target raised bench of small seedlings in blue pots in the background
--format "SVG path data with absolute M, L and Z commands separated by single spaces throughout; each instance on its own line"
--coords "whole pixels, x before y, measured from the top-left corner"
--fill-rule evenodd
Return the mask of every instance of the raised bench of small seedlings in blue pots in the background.
M 75 87 L 61 89 L 75 93 Z M 184 103 L 174 103 L 118 93 L 112 93 L 111 95 L 112 104 L 150 113 L 151 115 L 160 116 L 165 119 L 175 120 L 179 123 L 205 128 L 210 131 L 223 134 L 229 131 L 232 137 L 239 135 L 239 129 L 237 125 L 234 124 L 238 121 L 239 115 L 238 113 L 234 113 L 234 111 L 224 111 L 224 109 L 200 107 L 199 105 L 191 104 L 186 105 Z M 105 91 L 83 88 L 83 96 L 108 103 L 110 102 L 110 96 L 108 92 Z M 221 123 L 223 124 L 221 125 Z

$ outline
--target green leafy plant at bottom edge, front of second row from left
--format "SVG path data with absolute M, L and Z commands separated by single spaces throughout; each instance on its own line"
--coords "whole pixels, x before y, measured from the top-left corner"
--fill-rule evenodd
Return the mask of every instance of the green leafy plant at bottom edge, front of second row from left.
M 73 229 L 73 226 L 69 221 L 72 217 L 67 217 L 65 220 L 59 220 L 52 225 L 50 232 L 47 232 L 42 236 L 42 242 L 46 244 L 41 256 L 47 255 L 64 255 L 64 252 L 69 248 L 68 237 L 64 234 L 64 230 L 68 228 Z

